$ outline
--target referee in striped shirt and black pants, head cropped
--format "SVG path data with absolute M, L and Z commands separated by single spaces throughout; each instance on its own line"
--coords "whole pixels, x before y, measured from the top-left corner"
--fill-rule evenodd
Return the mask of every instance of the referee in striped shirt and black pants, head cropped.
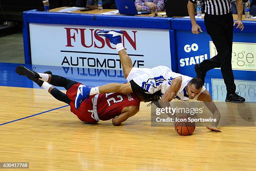
M 198 0 L 189 0 L 187 9 L 192 23 L 192 33 L 199 34 L 202 32 L 195 20 L 194 3 Z M 205 27 L 207 33 L 211 36 L 212 41 L 217 49 L 218 54 L 211 59 L 202 61 L 195 65 L 197 77 L 205 82 L 205 74 L 213 68 L 220 68 L 227 88 L 226 102 L 245 102 L 245 98 L 236 93 L 236 84 L 231 65 L 232 44 L 233 44 L 233 27 L 243 31 L 242 14 L 243 1 L 236 0 L 238 18 L 234 22 L 231 13 L 232 0 L 203 0 L 205 4 Z M 199 31 L 200 32 L 199 32 Z

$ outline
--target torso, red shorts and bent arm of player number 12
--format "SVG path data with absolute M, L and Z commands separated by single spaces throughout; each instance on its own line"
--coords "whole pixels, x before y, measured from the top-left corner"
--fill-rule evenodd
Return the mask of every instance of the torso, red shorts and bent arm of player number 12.
M 70 111 L 84 122 L 97 123 L 99 120 L 112 119 L 113 125 L 120 125 L 139 111 L 140 98 L 135 94 L 125 95 L 121 93 L 100 93 L 92 95 L 77 110 L 74 107 L 74 100 L 79 85 L 81 83 L 73 84 L 67 89 L 66 94 L 71 100 L 69 103 Z

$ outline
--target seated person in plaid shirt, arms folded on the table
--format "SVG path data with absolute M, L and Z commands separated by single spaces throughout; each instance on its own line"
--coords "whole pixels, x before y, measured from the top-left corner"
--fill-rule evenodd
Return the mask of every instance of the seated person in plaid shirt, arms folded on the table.
M 137 11 L 164 11 L 164 0 L 135 0 Z

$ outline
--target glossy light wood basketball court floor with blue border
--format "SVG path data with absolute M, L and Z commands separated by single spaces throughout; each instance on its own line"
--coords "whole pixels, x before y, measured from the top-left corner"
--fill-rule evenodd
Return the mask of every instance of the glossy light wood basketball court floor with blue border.
M 21 169 L 28 171 L 255 171 L 255 78 L 236 80 L 250 108 L 217 105 L 221 120 L 250 113 L 250 124 L 220 126 L 222 133 L 196 127 L 192 135 L 181 136 L 173 125 L 151 126 L 151 107 L 144 102 L 121 126 L 111 120 L 83 123 L 65 103 L 18 76 L 17 65 L 0 63 L 0 162 L 29 162 Z M 125 82 L 121 71 L 36 66 L 38 72 L 46 70 L 87 86 Z M 206 87 L 213 100 L 225 100 L 222 79 L 208 78 Z

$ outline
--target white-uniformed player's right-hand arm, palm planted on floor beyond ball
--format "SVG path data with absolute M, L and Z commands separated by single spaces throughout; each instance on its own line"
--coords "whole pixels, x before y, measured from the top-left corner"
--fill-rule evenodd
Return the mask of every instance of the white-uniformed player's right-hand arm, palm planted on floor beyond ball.
M 211 127 L 206 128 L 215 132 L 221 132 L 220 129 L 217 128 L 218 123 L 220 122 L 220 112 L 212 101 L 210 93 L 207 90 L 203 91 L 197 100 L 204 102 L 205 106 L 212 112 L 213 119 L 216 119 L 216 122 L 213 122 Z

